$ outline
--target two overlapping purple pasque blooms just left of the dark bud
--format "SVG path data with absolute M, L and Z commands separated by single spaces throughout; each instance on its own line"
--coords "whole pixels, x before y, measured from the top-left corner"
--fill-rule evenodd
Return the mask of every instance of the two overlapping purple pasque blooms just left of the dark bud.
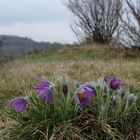
M 51 89 L 51 83 L 45 79 L 39 79 L 40 82 L 35 86 L 38 96 L 45 102 L 50 104 L 53 99 L 53 91 Z

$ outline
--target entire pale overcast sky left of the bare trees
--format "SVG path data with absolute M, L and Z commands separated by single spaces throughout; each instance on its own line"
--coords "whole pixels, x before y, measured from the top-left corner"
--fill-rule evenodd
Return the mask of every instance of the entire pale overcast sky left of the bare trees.
M 71 20 L 62 0 L 0 0 L 0 34 L 72 43 Z

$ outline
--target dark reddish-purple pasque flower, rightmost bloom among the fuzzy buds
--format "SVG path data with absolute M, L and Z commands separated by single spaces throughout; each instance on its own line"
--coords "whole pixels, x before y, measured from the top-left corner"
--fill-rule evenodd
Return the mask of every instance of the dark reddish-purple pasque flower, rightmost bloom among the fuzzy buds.
M 109 84 L 109 87 L 113 90 L 119 89 L 123 85 L 123 81 L 116 77 L 106 77 L 105 81 Z

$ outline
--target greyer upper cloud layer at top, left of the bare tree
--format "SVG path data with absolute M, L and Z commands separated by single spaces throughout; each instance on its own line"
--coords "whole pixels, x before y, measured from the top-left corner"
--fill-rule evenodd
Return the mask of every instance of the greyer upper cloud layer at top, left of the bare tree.
M 60 0 L 5 0 L 0 5 L 0 23 L 56 21 L 70 16 Z

